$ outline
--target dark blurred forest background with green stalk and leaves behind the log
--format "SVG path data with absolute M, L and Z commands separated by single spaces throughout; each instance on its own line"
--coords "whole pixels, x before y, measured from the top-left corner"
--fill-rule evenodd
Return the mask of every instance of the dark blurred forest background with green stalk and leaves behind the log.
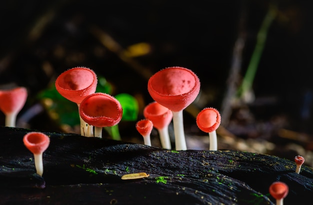
M 222 123 L 218 149 L 271 154 L 313 164 L 311 55 L 313 16 L 307 0 L 2 0 L 0 89 L 27 88 L 17 127 L 75 132 L 76 105 L 54 82 L 76 66 L 92 69 L 100 90 L 131 96 L 134 114 L 118 125 L 124 141 L 152 102 L 147 81 L 170 66 L 201 82 L 184 111 L 188 149 L 208 149 L 195 124 L 205 107 Z M 5 116 L 0 113 L 0 124 Z M 78 120 L 77 120 L 78 119 Z M 170 135 L 172 136 L 172 127 Z M 107 132 L 103 137 L 109 138 Z M 159 146 L 153 130 L 152 145 Z

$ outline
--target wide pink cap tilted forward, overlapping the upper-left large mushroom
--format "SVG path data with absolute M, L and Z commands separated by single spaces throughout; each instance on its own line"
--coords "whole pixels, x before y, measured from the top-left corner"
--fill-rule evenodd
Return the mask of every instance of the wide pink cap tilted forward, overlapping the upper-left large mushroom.
M 93 93 L 85 97 L 79 106 L 80 117 L 95 127 L 111 127 L 119 123 L 122 107 L 118 100 L 105 93 Z

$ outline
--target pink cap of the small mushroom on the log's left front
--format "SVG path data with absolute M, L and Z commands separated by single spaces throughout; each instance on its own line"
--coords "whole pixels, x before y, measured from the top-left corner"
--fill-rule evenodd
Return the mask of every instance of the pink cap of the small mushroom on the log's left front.
M 43 153 L 50 144 L 50 138 L 41 132 L 28 132 L 23 137 L 25 147 L 32 154 Z

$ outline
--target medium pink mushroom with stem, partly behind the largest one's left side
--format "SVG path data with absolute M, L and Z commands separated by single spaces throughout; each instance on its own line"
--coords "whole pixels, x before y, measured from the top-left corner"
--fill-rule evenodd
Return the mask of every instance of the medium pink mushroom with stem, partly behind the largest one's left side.
M 151 120 L 153 127 L 159 133 L 161 145 L 163 149 L 170 150 L 170 140 L 168 135 L 168 125 L 173 118 L 172 112 L 157 102 L 152 102 L 143 109 L 143 116 Z

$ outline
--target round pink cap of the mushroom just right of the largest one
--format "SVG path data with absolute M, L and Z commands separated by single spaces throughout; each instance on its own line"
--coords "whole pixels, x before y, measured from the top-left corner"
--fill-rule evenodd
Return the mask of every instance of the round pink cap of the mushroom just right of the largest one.
M 220 114 L 215 108 L 204 108 L 196 116 L 196 125 L 203 132 L 213 132 L 220 124 Z

